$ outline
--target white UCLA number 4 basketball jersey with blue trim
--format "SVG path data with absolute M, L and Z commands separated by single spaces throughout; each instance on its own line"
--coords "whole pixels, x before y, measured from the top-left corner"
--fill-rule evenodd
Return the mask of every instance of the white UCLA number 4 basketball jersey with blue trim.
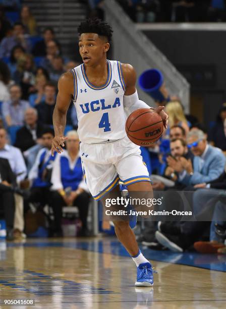
M 126 136 L 123 106 L 125 82 L 121 64 L 107 60 L 108 76 L 102 86 L 92 85 L 84 64 L 72 70 L 78 134 L 82 142 L 104 143 Z

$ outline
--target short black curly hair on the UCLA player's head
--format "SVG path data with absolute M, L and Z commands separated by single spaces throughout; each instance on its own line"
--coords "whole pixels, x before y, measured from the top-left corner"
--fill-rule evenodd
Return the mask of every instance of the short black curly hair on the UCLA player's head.
M 89 18 L 81 22 L 78 27 L 78 34 L 82 33 L 97 33 L 99 36 L 104 36 L 110 42 L 112 37 L 112 28 L 106 22 L 98 18 Z

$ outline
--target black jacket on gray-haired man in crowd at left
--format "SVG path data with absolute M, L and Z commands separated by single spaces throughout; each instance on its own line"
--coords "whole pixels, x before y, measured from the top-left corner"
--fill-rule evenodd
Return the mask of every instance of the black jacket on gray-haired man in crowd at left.
M 43 126 L 37 124 L 36 128 L 37 138 L 41 137 L 42 130 Z M 36 145 L 36 142 L 33 140 L 32 134 L 26 126 L 23 126 L 20 130 L 17 131 L 16 141 L 14 143 L 15 147 L 20 148 L 20 150 L 23 152 L 34 145 Z

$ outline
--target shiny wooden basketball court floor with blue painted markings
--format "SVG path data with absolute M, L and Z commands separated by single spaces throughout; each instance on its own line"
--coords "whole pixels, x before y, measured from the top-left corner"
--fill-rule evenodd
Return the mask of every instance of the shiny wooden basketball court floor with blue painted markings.
M 153 288 L 135 288 L 135 264 L 114 237 L 2 242 L 1 308 L 18 307 L 4 306 L 6 299 L 52 309 L 225 306 L 225 255 L 142 251 L 158 271 Z

